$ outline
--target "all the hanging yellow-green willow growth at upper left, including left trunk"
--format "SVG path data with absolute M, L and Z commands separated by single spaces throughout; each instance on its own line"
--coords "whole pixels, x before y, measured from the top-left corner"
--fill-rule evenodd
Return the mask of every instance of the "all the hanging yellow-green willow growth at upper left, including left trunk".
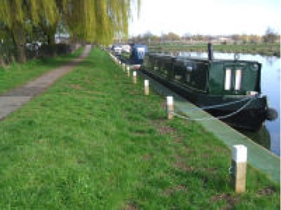
M 137 1 L 137 2 L 136 2 Z M 74 41 L 108 44 L 118 34 L 127 36 L 132 3 L 141 0 L 1 0 L 0 25 L 12 34 L 18 59 L 25 62 L 25 40 L 34 27 L 41 28 L 54 43 L 58 24 Z M 1 30 L 2 30 L 1 28 Z M 5 31 L 4 31 L 5 32 Z M 1 31 L 0 39 L 5 33 Z

